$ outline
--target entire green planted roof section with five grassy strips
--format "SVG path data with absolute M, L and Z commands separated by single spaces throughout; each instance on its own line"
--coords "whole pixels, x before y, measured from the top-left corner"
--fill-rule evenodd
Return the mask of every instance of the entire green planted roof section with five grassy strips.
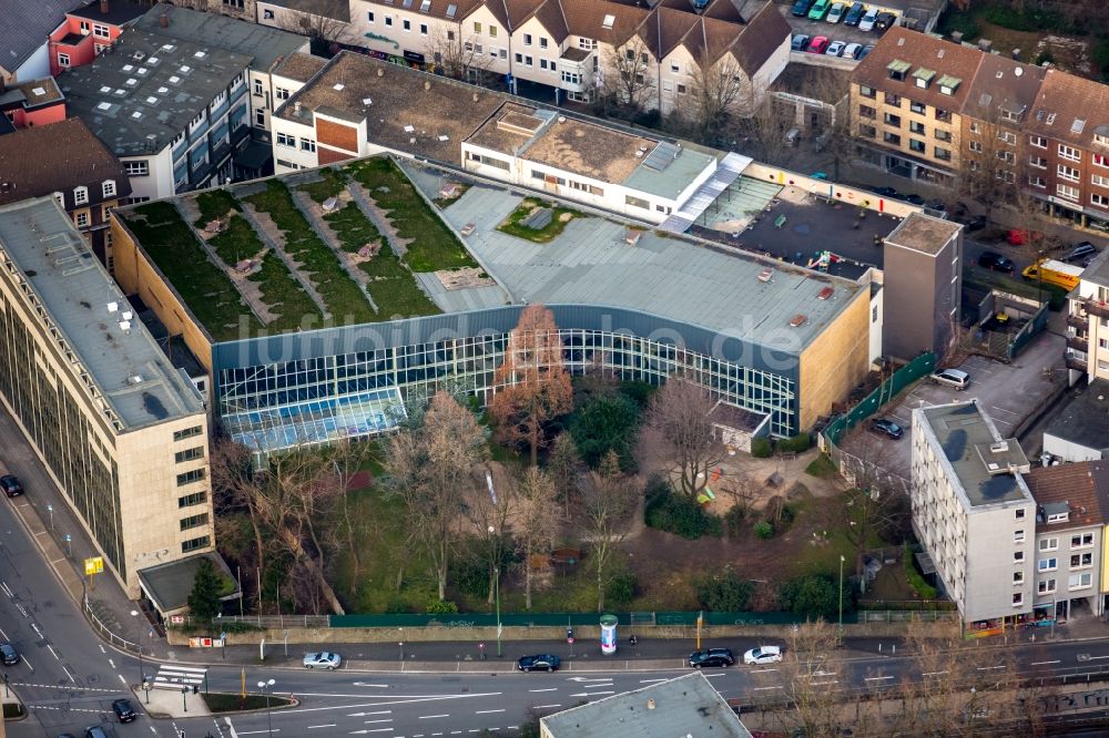
M 306 205 L 339 197 L 349 182 L 362 186 L 376 216 L 353 197 L 329 212 Z M 182 213 L 193 213 L 193 223 Z M 435 315 L 441 310 L 415 273 L 477 266 L 407 176 L 384 157 L 324 168 L 313 181 L 274 177 L 261 186 L 147 203 L 121 215 L 216 341 L 244 338 L 241 320 L 256 335 L 317 328 L 328 320 Z M 383 216 L 400 253 L 374 221 Z M 205 227 L 213 221 L 221 229 L 210 236 Z

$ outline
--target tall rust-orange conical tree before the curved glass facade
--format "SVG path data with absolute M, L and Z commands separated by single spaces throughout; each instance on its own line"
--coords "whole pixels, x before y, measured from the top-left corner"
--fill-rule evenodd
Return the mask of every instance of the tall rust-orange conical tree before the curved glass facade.
M 573 407 L 562 339 L 554 315 L 542 305 L 529 305 L 520 314 L 494 383 L 499 389 L 489 412 L 497 419 L 497 435 L 505 443 L 526 443 L 535 465 L 547 444 L 547 423 Z

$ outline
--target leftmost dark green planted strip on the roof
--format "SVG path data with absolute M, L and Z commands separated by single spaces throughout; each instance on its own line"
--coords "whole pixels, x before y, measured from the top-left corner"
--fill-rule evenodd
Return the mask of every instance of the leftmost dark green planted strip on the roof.
M 262 329 L 262 322 L 246 307 L 231 277 L 207 259 L 173 205 L 150 203 L 135 208 L 135 214 L 145 216 L 145 219 L 128 218 L 135 238 L 213 339 L 241 338 L 241 316 L 246 316 L 252 334 Z

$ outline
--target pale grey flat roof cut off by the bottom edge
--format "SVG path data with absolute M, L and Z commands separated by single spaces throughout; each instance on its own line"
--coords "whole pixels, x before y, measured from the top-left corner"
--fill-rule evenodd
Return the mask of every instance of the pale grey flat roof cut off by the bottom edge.
M 542 724 L 553 738 L 751 738 L 751 731 L 700 672 L 572 707 L 542 718 Z

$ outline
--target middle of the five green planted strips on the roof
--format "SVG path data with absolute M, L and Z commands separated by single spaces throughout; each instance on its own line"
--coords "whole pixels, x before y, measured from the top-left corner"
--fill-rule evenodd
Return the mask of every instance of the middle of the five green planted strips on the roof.
M 343 270 L 335 253 L 312 229 L 284 184 L 269 180 L 265 192 L 246 199 L 267 213 L 285 235 L 285 252 L 301 263 L 301 271 L 315 284 L 316 291 L 336 322 L 372 322 L 376 319 L 362 288 Z

